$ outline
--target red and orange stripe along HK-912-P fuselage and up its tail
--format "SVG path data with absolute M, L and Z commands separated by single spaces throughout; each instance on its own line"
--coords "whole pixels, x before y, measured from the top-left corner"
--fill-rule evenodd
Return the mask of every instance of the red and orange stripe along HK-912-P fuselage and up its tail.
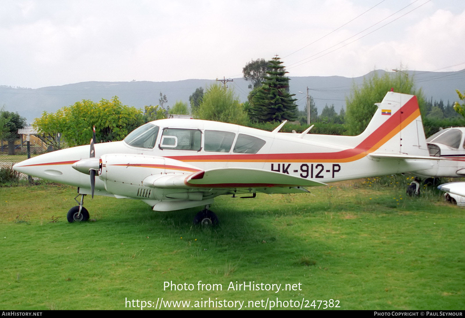
M 184 162 L 351 162 L 376 151 L 413 120 L 420 116 L 416 96 L 412 97 L 396 113 L 366 137 L 358 146 L 339 152 L 225 154 L 200 156 L 168 156 Z

